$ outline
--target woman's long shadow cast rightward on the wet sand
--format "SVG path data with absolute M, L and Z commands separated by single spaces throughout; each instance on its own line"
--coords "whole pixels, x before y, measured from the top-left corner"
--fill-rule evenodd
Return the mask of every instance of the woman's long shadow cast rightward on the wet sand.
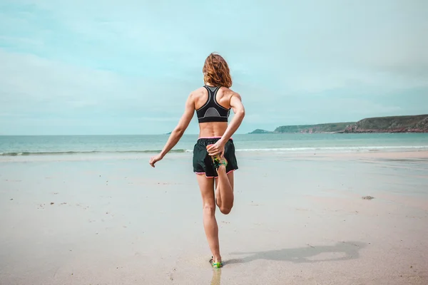
M 331 246 L 312 246 L 297 247 L 295 249 L 277 249 L 269 250 L 267 252 L 232 252 L 233 255 L 250 254 L 248 257 L 240 259 L 229 259 L 224 261 L 225 265 L 228 264 L 242 264 L 256 259 L 275 260 L 275 261 L 291 261 L 294 263 L 315 263 L 321 261 L 343 261 L 349 259 L 357 259 L 360 257 L 360 249 L 365 247 L 366 244 L 362 242 L 337 242 Z M 333 256 L 325 259 L 309 258 L 316 257 L 320 254 Z M 337 257 L 339 255 L 340 257 Z

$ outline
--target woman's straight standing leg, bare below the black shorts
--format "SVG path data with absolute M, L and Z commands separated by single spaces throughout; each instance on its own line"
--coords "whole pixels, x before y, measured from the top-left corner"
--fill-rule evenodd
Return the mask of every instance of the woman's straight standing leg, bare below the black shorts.
M 208 246 L 213 253 L 214 262 L 220 262 L 220 246 L 218 243 L 218 225 L 215 220 L 214 179 L 205 175 L 196 175 L 203 203 L 203 227 L 208 239 Z

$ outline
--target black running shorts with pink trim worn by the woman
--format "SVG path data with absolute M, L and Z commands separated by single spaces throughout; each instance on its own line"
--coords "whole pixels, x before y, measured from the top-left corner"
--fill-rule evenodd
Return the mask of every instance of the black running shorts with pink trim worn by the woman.
M 217 170 L 215 170 L 213 160 L 208 155 L 207 145 L 214 144 L 220 138 L 198 138 L 198 141 L 193 147 L 193 172 L 196 174 L 205 174 L 206 177 L 218 177 Z M 230 139 L 225 144 L 225 153 L 223 154 L 228 161 L 226 172 L 238 169 L 238 162 L 235 157 L 235 145 L 233 140 Z

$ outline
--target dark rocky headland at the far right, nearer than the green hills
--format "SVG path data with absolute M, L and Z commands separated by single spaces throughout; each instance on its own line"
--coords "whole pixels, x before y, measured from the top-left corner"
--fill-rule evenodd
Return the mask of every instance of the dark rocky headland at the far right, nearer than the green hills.
M 366 118 L 340 133 L 428 133 L 428 115 Z

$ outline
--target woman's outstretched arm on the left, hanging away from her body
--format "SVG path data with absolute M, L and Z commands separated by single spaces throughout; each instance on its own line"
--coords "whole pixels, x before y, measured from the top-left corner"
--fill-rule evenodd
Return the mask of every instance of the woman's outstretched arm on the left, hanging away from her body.
M 193 118 L 195 113 L 195 100 L 193 99 L 192 93 L 188 96 L 188 99 L 185 102 L 185 110 L 180 120 L 178 121 L 177 126 L 174 128 L 173 132 L 170 134 L 168 141 L 163 147 L 161 153 L 156 156 L 151 157 L 150 165 L 155 167 L 155 163 L 163 159 L 165 155 L 177 144 L 180 138 L 183 136 L 185 130 L 188 128 L 190 121 Z

